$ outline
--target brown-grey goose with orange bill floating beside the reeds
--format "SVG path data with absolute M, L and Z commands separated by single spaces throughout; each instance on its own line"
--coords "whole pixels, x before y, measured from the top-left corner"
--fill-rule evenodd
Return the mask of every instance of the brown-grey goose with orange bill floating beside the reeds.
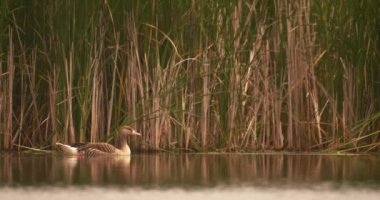
M 137 132 L 130 126 L 125 125 L 119 129 L 119 133 L 115 138 L 115 146 L 105 142 L 74 143 L 70 145 L 57 142 L 56 145 L 64 154 L 72 156 L 129 156 L 131 155 L 131 149 L 127 143 L 127 135 L 141 136 L 141 133 Z

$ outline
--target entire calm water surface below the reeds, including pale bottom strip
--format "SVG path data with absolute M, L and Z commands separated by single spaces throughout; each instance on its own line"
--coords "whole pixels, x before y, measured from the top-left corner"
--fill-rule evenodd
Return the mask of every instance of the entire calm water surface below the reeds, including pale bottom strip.
M 373 155 L 0 154 L 0 199 L 379 199 Z

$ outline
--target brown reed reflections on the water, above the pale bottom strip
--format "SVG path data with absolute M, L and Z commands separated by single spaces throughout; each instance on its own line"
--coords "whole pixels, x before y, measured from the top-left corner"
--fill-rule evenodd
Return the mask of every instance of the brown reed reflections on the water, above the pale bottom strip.
M 374 156 L 139 154 L 91 159 L 55 155 L 0 157 L 0 185 L 138 187 L 380 186 Z

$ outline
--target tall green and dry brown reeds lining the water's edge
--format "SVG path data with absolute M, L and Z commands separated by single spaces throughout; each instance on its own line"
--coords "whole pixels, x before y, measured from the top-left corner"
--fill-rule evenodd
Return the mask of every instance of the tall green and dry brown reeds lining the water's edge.
M 380 150 L 380 1 L 0 4 L 0 149 Z

